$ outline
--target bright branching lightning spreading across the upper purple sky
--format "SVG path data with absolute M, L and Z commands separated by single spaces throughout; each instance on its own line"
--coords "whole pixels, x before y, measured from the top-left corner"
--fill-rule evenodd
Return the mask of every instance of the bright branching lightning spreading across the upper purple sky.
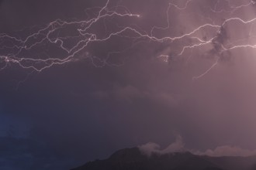
M 26 36 L 24 39 L 20 39 L 16 36 L 11 36 L 6 33 L 0 34 L 0 70 L 5 70 L 8 66 L 16 64 L 22 69 L 29 69 L 37 72 L 41 72 L 56 65 L 64 65 L 65 63 L 71 63 L 79 59 L 91 59 L 94 66 L 119 66 L 119 64 L 111 63 L 109 58 L 112 55 L 117 55 L 119 53 L 125 53 L 129 49 L 133 49 L 139 43 L 144 42 L 175 42 L 182 41 L 183 39 L 191 39 L 189 45 L 180 46 L 180 51 L 177 53 L 177 56 L 182 56 L 187 51 L 187 49 L 200 48 L 202 46 L 212 46 L 214 43 L 218 44 L 221 47 L 218 53 L 223 53 L 225 51 L 230 51 L 238 48 L 253 48 L 256 49 L 256 44 L 243 44 L 243 45 L 234 45 L 225 47 L 221 42 L 217 42 L 218 35 L 221 34 L 221 30 L 231 22 L 239 22 L 240 24 L 247 25 L 256 22 L 256 18 L 253 19 L 241 19 L 239 17 L 230 17 L 225 19 L 221 24 L 213 23 L 204 23 L 200 26 L 195 27 L 190 32 L 185 32 L 181 36 L 156 36 L 154 33 L 157 31 L 164 31 L 171 28 L 171 22 L 169 19 L 169 12 L 171 10 L 185 11 L 192 5 L 195 0 L 188 0 L 184 5 L 176 5 L 173 2 L 169 2 L 166 15 L 167 15 L 167 26 L 153 26 L 150 29 L 150 33 L 140 29 L 135 24 L 132 26 L 117 26 L 113 29 L 114 31 L 106 32 L 105 36 L 99 35 L 98 33 L 93 32 L 93 29 L 97 27 L 97 24 L 106 20 L 106 19 L 135 19 L 136 21 L 143 17 L 141 14 L 133 14 L 126 7 L 117 5 L 114 8 L 109 7 L 109 1 L 106 1 L 106 4 L 99 8 L 97 15 L 91 19 L 80 20 L 80 21 L 63 21 L 61 19 L 56 19 L 54 22 L 50 22 L 47 26 L 38 29 L 36 32 L 31 33 L 29 36 Z M 240 8 L 247 8 L 251 5 L 254 5 L 255 2 L 249 1 L 241 5 L 231 5 L 230 1 L 225 0 L 226 4 L 229 6 L 229 9 L 219 8 L 220 0 L 216 1 L 216 4 L 213 8 L 210 8 L 213 13 L 228 12 L 232 15 L 234 12 Z M 119 12 L 123 8 L 123 12 Z M 117 23 L 118 24 L 118 23 Z M 106 26 L 105 26 L 106 27 Z M 65 31 L 68 28 L 74 29 L 73 31 L 76 35 L 65 35 L 60 36 L 61 31 Z M 99 28 L 98 28 L 99 29 Z M 202 30 L 214 30 L 213 37 L 210 37 L 208 40 L 203 39 L 202 37 L 196 36 L 198 32 Z M 131 36 L 133 35 L 133 36 Z M 116 37 L 120 39 L 131 39 L 133 40 L 130 46 L 127 46 L 124 49 L 118 49 L 114 51 L 109 51 L 104 59 L 99 56 L 93 56 L 89 53 L 90 45 L 96 44 L 99 42 L 114 41 Z M 67 47 L 66 44 L 72 39 L 76 42 Z M 11 42 L 11 43 L 6 43 Z M 11 44 L 11 45 L 6 45 Z M 33 49 L 40 48 L 40 46 L 55 46 L 58 50 L 63 53 L 62 57 L 57 57 L 56 54 L 47 53 L 47 57 L 42 56 L 31 56 L 31 54 L 26 54 Z M 168 54 L 160 54 L 157 56 L 159 58 L 164 58 L 164 62 L 169 62 Z M 199 79 L 202 76 L 205 76 L 209 73 L 219 62 L 220 56 L 216 59 L 216 62 L 206 70 L 205 73 L 202 73 L 199 76 L 195 76 L 193 80 Z M 98 61 L 98 62 L 97 62 Z

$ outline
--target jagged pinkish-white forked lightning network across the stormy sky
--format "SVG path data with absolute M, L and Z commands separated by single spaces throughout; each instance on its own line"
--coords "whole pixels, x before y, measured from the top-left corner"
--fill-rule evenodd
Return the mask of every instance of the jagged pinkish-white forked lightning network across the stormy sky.
M 227 7 L 221 6 L 223 3 Z M 196 0 L 179 1 L 178 4 L 173 1 L 169 2 L 166 10 L 166 23 L 163 23 L 163 26 L 153 26 L 150 28 L 150 32 L 141 29 L 135 24 L 136 22 L 140 22 L 140 19 L 143 19 L 143 14 L 134 14 L 123 5 L 112 7 L 109 4 L 110 0 L 107 0 L 102 7 L 88 8 L 85 10 L 86 13 L 97 10 L 97 14 L 94 17 L 76 21 L 56 19 L 37 29 L 35 32 L 30 33 L 25 38 L 0 33 L 0 70 L 5 70 L 9 66 L 16 65 L 25 70 L 42 72 L 52 66 L 64 65 L 66 63 L 80 61 L 81 59 L 90 59 L 96 67 L 120 66 L 123 63 L 112 62 L 111 57 L 122 55 L 140 44 L 150 42 L 171 44 L 185 41 L 185 44 L 179 45 L 177 48 L 179 51 L 175 57 L 183 56 L 191 49 L 200 49 L 202 46 L 211 46 L 217 53 L 213 65 L 204 73 L 193 77 L 193 80 L 197 80 L 202 78 L 202 76 L 206 76 L 207 73 L 218 65 L 223 53 L 240 48 L 256 48 L 256 44 L 237 45 L 235 42 L 225 44 L 220 41 L 220 37 L 228 25 L 236 22 L 247 26 L 249 24 L 253 25 L 256 22 L 256 18 L 242 19 L 240 17 L 233 17 L 234 13 L 240 9 L 253 6 L 255 4 L 254 1 L 233 5 L 228 0 L 216 0 L 213 6 L 206 8 L 209 8 L 213 14 L 227 13 L 230 17 L 216 24 L 214 19 L 202 16 L 202 18 L 209 22 L 195 26 L 195 28 L 189 32 L 182 33 L 180 36 L 157 36 L 155 32 L 164 32 L 171 29 L 171 26 L 175 24 L 171 23 L 169 18 L 171 10 L 186 12 L 192 5 L 196 5 Z M 122 24 L 119 25 L 119 22 L 113 22 L 112 28 L 108 29 L 109 23 L 112 23 L 112 20 L 115 19 L 123 21 L 130 19 L 134 21 L 134 24 L 123 26 Z M 97 29 L 101 30 L 101 32 L 95 31 Z M 105 32 L 102 31 L 104 29 Z M 213 32 L 213 36 L 207 39 L 198 36 L 202 30 Z M 71 33 L 69 34 L 68 32 Z M 129 42 L 130 45 L 118 49 L 109 49 L 104 57 L 93 54 L 92 46 L 116 42 L 116 39 Z M 189 39 L 189 42 L 187 39 Z M 244 39 L 247 39 L 247 37 L 244 37 Z M 54 52 L 50 49 L 54 49 Z M 35 51 L 36 53 L 40 51 L 40 53 L 35 54 Z M 190 52 L 192 53 L 192 51 Z M 164 62 L 170 62 L 171 56 L 168 53 L 161 53 L 156 57 L 163 59 Z

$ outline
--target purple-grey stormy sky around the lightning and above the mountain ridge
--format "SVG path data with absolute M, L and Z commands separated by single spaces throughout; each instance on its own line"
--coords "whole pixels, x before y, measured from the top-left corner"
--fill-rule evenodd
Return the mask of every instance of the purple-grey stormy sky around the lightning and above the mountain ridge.
M 179 6 L 185 4 L 185 1 L 173 2 Z M 216 24 L 222 23 L 230 13 L 210 10 L 216 2 L 195 0 L 186 10 L 171 8 L 168 12 L 170 29 L 155 29 L 154 35 L 181 36 L 197 26 L 212 22 L 211 19 Z M 12 30 L 45 24 L 54 19 L 84 19 L 88 17 L 85 8 L 105 3 L 3 1 L 0 7 L 1 30 L 23 37 L 26 35 Z M 112 5 L 116 3 L 125 5 L 141 18 L 136 21 L 106 20 L 105 26 L 110 30 L 116 26 L 137 24 L 137 28 L 150 32 L 153 26 L 165 27 L 168 24 L 168 1 L 118 1 Z M 219 3 L 216 10 L 226 8 L 226 1 Z M 237 4 L 240 1 L 234 1 L 234 5 Z M 251 19 L 255 13 L 254 8 L 250 8 L 238 10 L 234 15 Z M 89 12 L 89 15 L 95 15 L 95 12 Z M 101 31 L 102 26 L 104 23 L 94 31 L 104 35 L 106 32 Z M 178 56 L 178 52 L 192 39 L 163 43 L 145 40 L 130 51 L 116 55 L 119 57 L 112 57 L 111 61 L 116 63 L 125 61 L 122 66 L 96 68 L 90 61 L 78 59 L 28 77 L 26 70 L 16 66 L 2 70 L 0 103 L 2 113 L 11 116 L 0 116 L 0 127 L 5 129 L 0 131 L 0 142 L 5 148 L 0 155 L 0 165 L 7 168 L 23 157 L 29 160 L 29 165 L 20 165 L 24 169 L 31 164 L 35 164 L 36 169 L 44 165 L 57 169 L 58 164 L 63 167 L 62 162 L 69 158 L 72 161 L 67 167 L 71 168 L 88 160 L 105 158 L 116 149 L 144 145 L 149 141 L 167 147 L 166 151 L 184 147 L 195 148 L 202 154 L 210 148 L 209 155 L 220 154 L 218 147 L 223 145 L 226 147 L 222 151 L 239 150 L 239 147 L 254 150 L 256 138 L 252 129 L 256 118 L 256 81 L 255 59 L 251 57 L 254 50 L 221 53 L 222 45 L 239 42 L 240 37 L 246 36 L 247 29 L 249 26 L 240 23 L 227 24 L 219 29 L 219 33 L 213 29 L 202 29 L 195 36 L 205 40 L 213 36 L 216 38 L 202 48 L 189 50 L 184 56 Z M 126 42 L 121 42 L 118 39 L 108 44 L 93 44 L 88 53 L 104 56 L 111 48 L 126 46 Z M 161 54 L 169 57 L 168 62 L 156 57 Z M 223 62 L 220 59 L 221 62 L 210 73 L 192 81 L 193 76 L 209 69 L 217 57 L 224 58 L 225 55 L 235 58 L 233 65 L 230 64 L 233 60 Z M 19 83 L 20 80 L 26 81 Z M 16 88 L 17 84 L 19 88 Z M 18 134 L 26 131 L 26 135 L 5 135 L 16 131 L 16 128 L 10 131 L 11 124 L 23 129 L 17 131 Z M 174 131 L 178 131 L 180 138 L 175 145 L 170 145 L 175 141 Z M 159 145 L 150 144 L 146 146 L 162 151 Z M 19 156 L 12 158 L 12 155 Z

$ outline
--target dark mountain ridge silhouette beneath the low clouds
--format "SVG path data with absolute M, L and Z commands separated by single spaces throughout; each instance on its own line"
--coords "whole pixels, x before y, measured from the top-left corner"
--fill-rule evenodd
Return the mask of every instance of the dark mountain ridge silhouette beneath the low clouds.
M 256 170 L 256 156 L 209 157 L 183 152 L 148 157 L 139 148 L 127 148 L 72 170 Z

